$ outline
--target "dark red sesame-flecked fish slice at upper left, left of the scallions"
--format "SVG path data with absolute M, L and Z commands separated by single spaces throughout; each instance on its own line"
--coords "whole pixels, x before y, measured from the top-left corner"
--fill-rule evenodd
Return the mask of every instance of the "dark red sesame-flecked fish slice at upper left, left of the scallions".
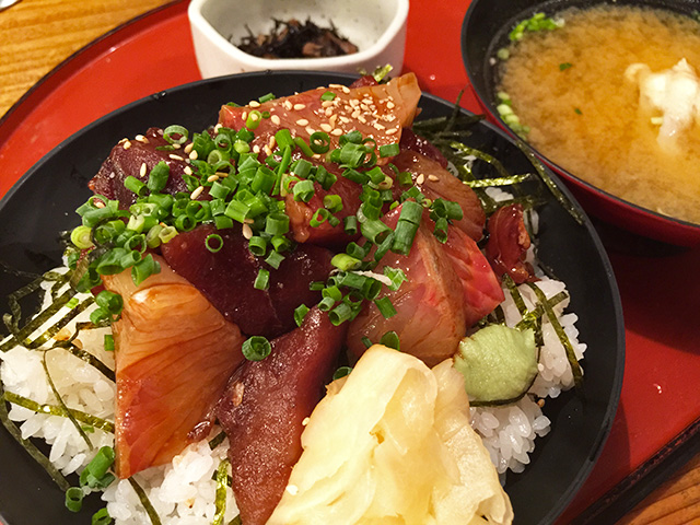
M 136 194 L 124 186 L 124 182 L 130 175 L 145 183 L 151 170 L 161 161 L 170 167 L 170 178 L 163 189 L 166 194 L 187 191 L 183 179 L 187 167 L 187 155 L 180 150 L 159 150 L 170 147 L 163 138 L 163 130 L 150 128 L 147 133 L 138 139 L 124 140 L 112 149 L 109 156 L 100 167 L 88 186 L 95 194 L 104 195 L 108 199 L 118 200 L 121 208 L 128 208 L 136 202 Z M 141 167 L 145 164 L 145 168 Z

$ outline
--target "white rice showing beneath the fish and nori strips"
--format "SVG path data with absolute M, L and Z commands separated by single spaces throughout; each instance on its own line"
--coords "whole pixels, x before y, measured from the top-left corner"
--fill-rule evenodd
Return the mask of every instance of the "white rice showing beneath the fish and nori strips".
M 489 189 L 489 191 L 499 200 L 508 196 L 504 192 L 499 194 L 500 190 Z M 536 228 L 536 217 L 533 224 Z M 530 253 L 529 258 L 533 259 L 533 257 Z M 562 282 L 544 276 L 539 277 L 541 280 L 537 285 L 548 299 L 565 291 Z M 536 302 L 534 292 L 526 284 L 518 289 L 528 308 L 533 308 Z M 509 326 L 514 326 L 521 319 L 521 315 L 508 291 L 505 296 L 502 304 L 503 312 Z M 574 347 L 576 357 L 582 359 L 585 345 L 578 341 L 575 314 L 563 313 L 568 303 L 568 300 L 563 301 L 553 310 Z M 77 320 L 84 320 L 88 316 L 89 312 L 84 312 Z M 74 326 L 74 323 L 71 326 Z M 103 349 L 106 330 L 83 330 L 79 339 L 83 348 L 109 366 L 114 366 L 113 354 Z M 547 434 L 550 430 L 550 421 L 542 413 L 537 400 L 539 399 L 541 404 L 542 398 L 557 397 L 562 390 L 573 386 L 565 350 L 546 316 L 542 319 L 542 336 L 545 346 L 540 350 L 539 375 L 529 394 L 510 406 L 471 408 L 471 424 L 481 435 L 501 475 L 506 470 L 523 471 L 529 463 L 529 454 L 535 448 L 536 438 Z M 43 352 L 36 350 L 15 347 L 0 355 L 2 359 L 0 373 L 8 392 L 39 404 L 55 405 L 57 400 L 46 380 L 42 354 Z M 114 383 L 106 380 L 90 364 L 61 349 L 47 352 L 47 363 L 56 387 L 68 407 L 114 421 L 116 394 Z M 72 423 L 59 416 L 35 413 L 13 405 L 10 418 L 20 423 L 23 438 L 38 438 L 50 445 L 49 458 L 65 475 L 79 474 L 90 463 L 94 451 L 103 445 L 114 444 L 112 434 L 95 429 L 89 434 L 94 446 L 94 451 L 91 452 Z M 217 489 L 213 478 L 221 460 L 226 456 L 226 441 L 213 451 L 210 450 L 207 441 L 201 441 L 188 446 L 171 464 L 153 467 L 135 476 L 138 483 L 145 490 L 164 525 L 212 523 Z M 109 515 L 114 517 L 117 525 L 149 523 L 137 493 L 127 480 L 114 482 L 102 493 L 102 499 L 106 502 Z M 229 488 L 224 523 L 229 523 L 236 515 L 237 509 Z

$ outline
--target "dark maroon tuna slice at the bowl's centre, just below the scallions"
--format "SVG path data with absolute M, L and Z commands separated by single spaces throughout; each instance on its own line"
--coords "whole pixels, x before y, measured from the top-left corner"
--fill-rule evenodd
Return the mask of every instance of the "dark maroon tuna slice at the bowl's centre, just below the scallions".
M 223 245 L 217 253 L 206 246 L 217 233 Z M 273 269 L 248 250 L 248 241 L 240 226 L 215 230 L 201 225 L 178 234 L 162 246 L 171 268 L 191 282 L 226 320 L 244 334 L 277 337 L 293 329 L 294 308 L 320 301 L 320 293 L 308 289 L 312 281 L 325 281 L 332 266 L 332 254 L 313 245 L 298 245 Z M 269 288 L 254 287 L 260 269 L 270 272 Z

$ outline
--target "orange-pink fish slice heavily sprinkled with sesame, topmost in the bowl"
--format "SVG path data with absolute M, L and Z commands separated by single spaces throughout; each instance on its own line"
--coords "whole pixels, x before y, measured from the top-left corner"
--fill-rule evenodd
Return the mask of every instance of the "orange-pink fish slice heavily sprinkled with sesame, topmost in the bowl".
M 323 100 L 322 95 L 326 95 Z M 372 137 L 377 147 L 397 143 L 401 129 L 409 127 L 418 108 L 420 88 L 413 73 L 393 79 L 386 84 L 350 89 L 342 85 L 317 88 L 303 93 L 276 98 L 253 106 L 223 106 L 219 122 L 228 128 L 241 129 L 252 110 L 269 112 L 269 118 L 259 119 L 255 128 L 254 145 L 265 151 L 280 128 L 288 128 L 292 137 L 308 138 L 315 131 L 325 131 L 330 148 L 338 147 L 338 138 L 352 130 Z M 387 159 L 380 159 L 380 163 Z

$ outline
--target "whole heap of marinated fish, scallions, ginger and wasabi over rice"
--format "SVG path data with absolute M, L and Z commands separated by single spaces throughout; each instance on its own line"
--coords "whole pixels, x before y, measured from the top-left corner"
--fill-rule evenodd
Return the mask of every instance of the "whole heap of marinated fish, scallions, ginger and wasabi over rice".
M 545 192 L 575 211 L 522 144 L 532 173 L 466 145 L 481 117 L 415 120 L 420 96 L 366 75 L 114 147 L 0 342 L 0 419 L 71 511 L 512 522 L 503 476 L 583 381 L 536 256 Z

